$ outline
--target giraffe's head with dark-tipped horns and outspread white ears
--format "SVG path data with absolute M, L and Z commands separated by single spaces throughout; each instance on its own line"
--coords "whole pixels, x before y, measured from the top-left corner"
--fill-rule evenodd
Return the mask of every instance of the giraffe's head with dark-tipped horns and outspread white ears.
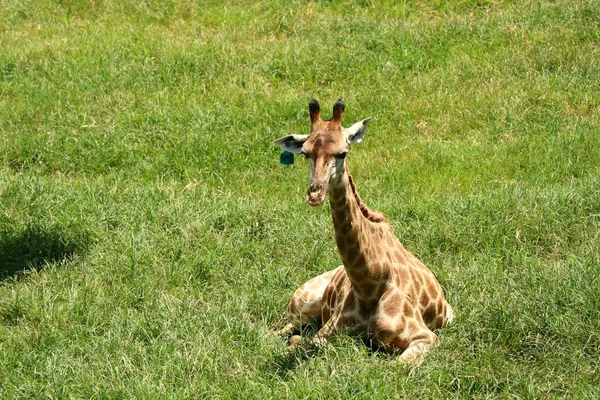
M 306 202 L 311 206 L 323 203 L 330 181 L 339 181 L 345 171 L 344 163 L 351 143 L 360 143 L 371 118 L 363 119 L 349 128 L 342 126 L 345 109 L 340 99 L 333 105 L 333 117 L 321 119 L 319 102 L 308 103 L 310 135 L 288 135 L 277 139 L 275 145 L 294 154 L 304 154 L 310 164 L 310 186 Z

